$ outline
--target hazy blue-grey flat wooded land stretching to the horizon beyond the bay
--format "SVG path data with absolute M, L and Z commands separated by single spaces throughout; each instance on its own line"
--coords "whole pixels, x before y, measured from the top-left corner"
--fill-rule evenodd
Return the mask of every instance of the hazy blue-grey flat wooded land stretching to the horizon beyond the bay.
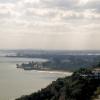
M 64 50 L 2 50 L 6 57 L 43 58 L 49 60 L 43 66 L 57 70 L 77 70 L 96 65 L 100 61 L 100 51 Z

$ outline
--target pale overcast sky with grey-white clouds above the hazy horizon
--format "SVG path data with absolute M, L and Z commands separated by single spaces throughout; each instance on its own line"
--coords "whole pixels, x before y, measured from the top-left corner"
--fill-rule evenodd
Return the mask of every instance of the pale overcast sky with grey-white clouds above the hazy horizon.
M 0 49 L 100 50 L 100 0 L 0 0 Z

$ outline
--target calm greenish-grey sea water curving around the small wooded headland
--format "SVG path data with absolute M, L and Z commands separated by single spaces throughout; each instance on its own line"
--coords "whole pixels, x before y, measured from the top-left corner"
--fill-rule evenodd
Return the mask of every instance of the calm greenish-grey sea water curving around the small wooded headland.
M 0 57 L 0 100 L 15 100 L 46 87 L 58 77 L 71 75 L 70 72 L 25 71 L 17 69 L 16 64 L 29 61 L 44 62 L 47 59 Z

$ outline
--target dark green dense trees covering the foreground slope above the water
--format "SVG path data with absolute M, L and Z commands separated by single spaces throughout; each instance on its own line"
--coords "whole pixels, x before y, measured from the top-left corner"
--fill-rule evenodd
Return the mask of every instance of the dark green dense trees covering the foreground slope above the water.
M 91 73 L 91 70 L 80 69 L 72 76 L 59 78 L 41 91 L 16 100 L 91 100 L 100 79 L 81 77 L 82 73 Z

